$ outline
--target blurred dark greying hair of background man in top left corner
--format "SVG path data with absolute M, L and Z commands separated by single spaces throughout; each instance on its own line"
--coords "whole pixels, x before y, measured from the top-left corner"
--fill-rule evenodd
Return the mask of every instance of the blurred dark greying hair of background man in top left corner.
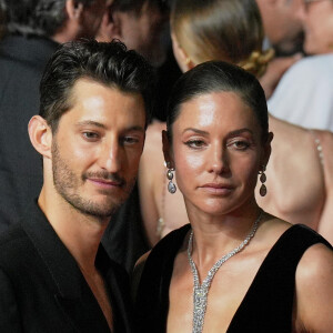
M 6 8 L 8 33 L 51 37 L 65 20 L 67 0 L 0 0 Z M 94 0 L 75 0 L 84 6 Z

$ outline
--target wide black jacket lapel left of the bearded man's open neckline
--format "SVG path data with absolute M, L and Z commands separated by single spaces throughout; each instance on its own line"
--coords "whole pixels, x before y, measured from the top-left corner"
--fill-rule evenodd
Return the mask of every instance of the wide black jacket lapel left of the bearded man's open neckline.
M 56 284 L 54 299 L 78 332 L 109 332 L 103 312 L 75 260 L 58 238 L 37 202 L 22 223 Z

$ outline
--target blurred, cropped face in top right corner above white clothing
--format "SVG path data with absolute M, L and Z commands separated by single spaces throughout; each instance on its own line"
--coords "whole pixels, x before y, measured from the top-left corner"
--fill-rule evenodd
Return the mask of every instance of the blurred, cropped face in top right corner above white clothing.
M 309 54 L 333 52 L 333 0 L 296 1 L 297 14 L 305 31 L 305 52 Z

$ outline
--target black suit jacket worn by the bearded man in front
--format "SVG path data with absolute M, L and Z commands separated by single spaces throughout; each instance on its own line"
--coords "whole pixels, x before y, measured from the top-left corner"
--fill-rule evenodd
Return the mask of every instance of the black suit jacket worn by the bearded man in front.
M 0 332 L 110 332 L 73 256 L 38 204 L 0 235 Z M 132 332 L 128 275 L 100 246 L 95 262 L 111 301 L 114 332 Z

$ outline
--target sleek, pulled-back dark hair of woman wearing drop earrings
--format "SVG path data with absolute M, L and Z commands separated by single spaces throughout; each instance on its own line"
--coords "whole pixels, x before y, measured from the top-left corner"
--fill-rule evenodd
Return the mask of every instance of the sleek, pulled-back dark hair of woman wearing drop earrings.
M 172 124 L 183 103 L 206 93 L 234 92 L 250 107 L 261 127 L 262 142 L 268 140 L 269 115 L 264 91 L 256 78 L 238 65 L 208 61 L 185 72 L 175 82 L 168 103 L 167 130 L 172 141 Z

